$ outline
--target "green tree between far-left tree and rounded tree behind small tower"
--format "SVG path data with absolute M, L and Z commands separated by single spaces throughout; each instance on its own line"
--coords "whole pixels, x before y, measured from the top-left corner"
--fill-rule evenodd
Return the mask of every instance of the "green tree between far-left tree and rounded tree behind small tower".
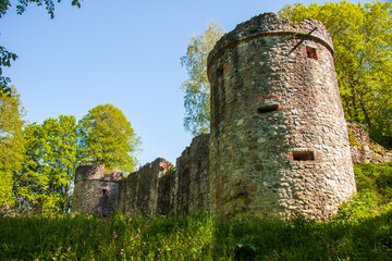
M 76 166 L 76 119 L 60 115 L 44 124 L 29 124 L 24 129 L 25 158 L 14 175 L 14 194 L 20 209 L 68 212 L 71 207 L 71 184 Z

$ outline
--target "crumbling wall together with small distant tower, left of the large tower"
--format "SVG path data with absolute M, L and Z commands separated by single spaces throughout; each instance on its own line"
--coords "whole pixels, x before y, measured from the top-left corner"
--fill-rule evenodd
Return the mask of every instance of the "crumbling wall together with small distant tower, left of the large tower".
M 76 169 L 72 211 L 168 214 L 209 209 L 209 135 L 195 137 L 176 169 L 158 158 L 123 177 L 102 165 Z

